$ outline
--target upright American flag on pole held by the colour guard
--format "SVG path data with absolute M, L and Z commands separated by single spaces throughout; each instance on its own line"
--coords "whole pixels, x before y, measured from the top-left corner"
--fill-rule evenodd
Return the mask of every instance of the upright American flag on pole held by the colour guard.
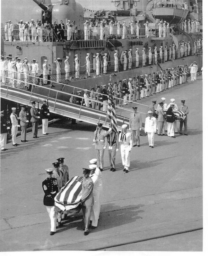
M 111 122 L 112 130 L 114 130 L 115 133 L 119 133 L 118 126 L 117 126 L 116 113 L 115 113 L 115 104 L 113 99 L 113 96 L 114 96 L 113 86 L 111 82 L 109 84 L 108 91 L 109 91 L 109 98 L 107 103 L 107 118 Z

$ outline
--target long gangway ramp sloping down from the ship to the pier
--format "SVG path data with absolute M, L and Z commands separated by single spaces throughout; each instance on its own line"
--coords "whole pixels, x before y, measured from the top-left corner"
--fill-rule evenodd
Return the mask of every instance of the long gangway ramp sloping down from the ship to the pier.
M 107 119 L 107 112 L 104 112 L 102 110 L 93 109 L 90 107 L 83 106 L 83 104 L 75 104 L 70 103 L 66 100 L 63 100 L 62 98 L 70 98 L 70 97 L 76 97 L 81 98 L 82 103 L 84 103 L 84 97 L 74 95 L 73 93 L 67 93 L 62 90 L 57 90 L 55 88 L 50 87 L 44 87 L 44 95 L 41 94 L 38 90 L 35 90 L 36 88 L 43 88 L 43 86 L 32 84 L 27 82 L 27 86 L 31 86 L 31 91 L 28 91 L 23 88 L 15 88 L 12 86 L 9 86 L 9 79 L 11 78 L 6 77 L 7 85 L 1 84 L 1 98 L 8 99 L 10 101 L 14 101 L 20 104 L 25 105 L 31 105 L 31 102 L 33 101 L 41 101 L 42 99 L 46 98 L 48 99 L 49 104 L 49 110 L 51 113 L 62 115 L 64 117 L 77 119 L 79 121 L 84 121 L 92 124 L 97 124 L 98 120 L 103 123 L 104 127 L 109 128 L 110 120 Z M 13 81 L 18 81 L 17 79 L 12 79 Z M 53 82 L 54 84 L 54 82 Z M 57 85 L 64 85 L 61 83 L 57 83 Z M 69 86 L 69 85 L 64 85 Z M 57 86 L 58 87 L 58 86 Z M 70 86 L 72 87 L 72 86 Z M 76 87 L 73 87 L 73 91 L 75 91 Z M 80 88 L 76 88 L 76 90 L 80 90 Z M 42 91 L 42 90 L 41 90 Z M 50 96 L 49 96 L 50 95 Z M 102 95 L 102 94 L 101 94 Z M 100 101 L 89 99 L 90 101 L 96 102 L 95 104 L 101 104 Z M 106 104 L 103 103 L 102 104 Z M 135 103 L 136 104 L 136 103 Z M 139 104 L 139 103 L 137 103 Z M 140 112 L 145 115 L 146 117 L 146 105 L 139 104 L 144 107 L 144 112 Z M 124 105 L 125 106 L 125 105 Z M 116 109 L 116 118 L 117 118 L 117 124 L 118 129 L 121 130 L 121 126 L 123 123 L 129 125 L 129 114 L 132 112 L 132 110 L 129 110 L 128 108 L 124 107 L 123 104 L 121 107 L 117 106 Z M 143 118 L 143 120 L 145 120 Z M 144 132 L 144 124 L 142 125 L 142 130 L 140 132 L 141 135 L 146 136 Z

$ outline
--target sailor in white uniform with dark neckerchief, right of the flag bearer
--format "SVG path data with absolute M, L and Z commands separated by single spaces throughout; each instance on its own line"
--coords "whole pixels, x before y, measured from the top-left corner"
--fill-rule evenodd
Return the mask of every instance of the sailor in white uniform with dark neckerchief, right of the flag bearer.
M 124 166 L 123 171 L 129 172 L 130 167 L 130 152 L 132 149 L 131 133 L 127 132 L 127 125 L 122 125 L 122 131 L 119 134 L 119 143 L 121 145 L 121 159 Z

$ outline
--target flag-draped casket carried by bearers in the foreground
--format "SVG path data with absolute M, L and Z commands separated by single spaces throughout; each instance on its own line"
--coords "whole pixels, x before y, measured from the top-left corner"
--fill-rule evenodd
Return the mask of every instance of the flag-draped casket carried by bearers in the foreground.
M 54 198 L 57 213 L 79 213 L 83 179 L 84 177 L 75 176 L 60 189 Z

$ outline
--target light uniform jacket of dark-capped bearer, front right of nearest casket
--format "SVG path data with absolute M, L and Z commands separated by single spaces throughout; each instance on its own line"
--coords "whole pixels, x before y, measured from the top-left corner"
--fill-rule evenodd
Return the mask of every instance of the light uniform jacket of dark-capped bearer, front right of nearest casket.
M 90 177 L 83 179 L 81 202 L 84 206 L 93 206 L 94 204 L 93 186 L 94 184 Z

